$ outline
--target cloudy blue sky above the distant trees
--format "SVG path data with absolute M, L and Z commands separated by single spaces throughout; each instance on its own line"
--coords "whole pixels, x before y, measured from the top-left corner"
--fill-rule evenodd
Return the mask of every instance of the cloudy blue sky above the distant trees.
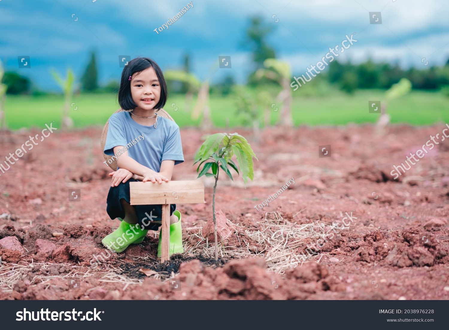
M 269 45 L 277 58 L 290 62 L 295 75 L 354 32 L 358 41 L 340 54 L 341 61 L 372 58 L 425 68 L 423 62 L 440 66 L 449 58 L 448 1 L 193 0 L 194 7 L 168 30 L 154 32 L 188 3 L 0 0 L 0 59 L 6 70 L 54 91 L 58 88 L 50 69 L 65 76 L 70 67 L 79 81 L 91 50 L 97 53 L 100 84 L 119 80 L 119 55 L 150 57 L 166 70 L 180 68 L 185 53 L 200 80 L 214 83 L 230 73 L 244 82 L 253 64 L 241 44 L 253 15 L 272 25 Z M 381 12 L 382 24 L 370 24 L 369 12 Z M 222 55 L 231 56 L 232 69 L 218 69 Z M 18 56 L 30 56 L 31 68 L 19 69 Z

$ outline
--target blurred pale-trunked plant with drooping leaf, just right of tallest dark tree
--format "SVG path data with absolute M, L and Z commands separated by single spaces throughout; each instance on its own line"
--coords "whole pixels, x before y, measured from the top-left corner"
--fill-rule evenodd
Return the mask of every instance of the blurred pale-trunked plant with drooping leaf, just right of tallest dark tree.
M 282 102 L 279 123 L 284 127 L 293 127 L 293 118 L 291 116 L 292 92 L 290 87 L 290 63 L 277 60 L 276 58 L 268 58 L 264 61 L 264 67 L 264 69 L 256 71 L 255 77 L 264 77 L 273 80 L 282 87 L 282 91 L 276 97 L 276 102 Z

